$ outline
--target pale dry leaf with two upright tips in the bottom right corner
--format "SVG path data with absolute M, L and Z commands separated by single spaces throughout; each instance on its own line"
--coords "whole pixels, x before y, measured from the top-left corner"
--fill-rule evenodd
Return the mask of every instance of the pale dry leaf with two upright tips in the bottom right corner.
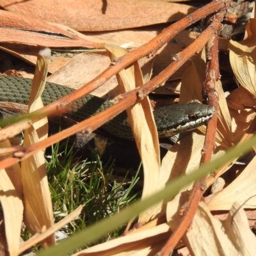
M 240 204 L 232 205 L 225 221 L 216 220 L 200 202 L 189 230 L 183 237 L 193 255 L 255 255 L 256 238 Z M 200 243 L 198 243 L 200 241 Z

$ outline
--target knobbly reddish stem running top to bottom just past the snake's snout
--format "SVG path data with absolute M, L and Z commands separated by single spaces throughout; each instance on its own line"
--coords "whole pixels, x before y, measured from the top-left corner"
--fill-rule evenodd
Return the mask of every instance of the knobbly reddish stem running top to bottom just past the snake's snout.
M 215 20 L 218 20 L 219 24 L 223 20 L 225 13 L 217 13 L 212 17 L 212 23 Z M 212 26 L 211 24 L 209 27 Z M 220 29 L 212 38 L 207 42 L 206 45 L 206 58 L 207 58 L 207 67 L 206 67 L 206 77 L 205 77 L 205 86 L 204 86 L 204 93 L 209 97 L 209 105 L 215 108 L 215 115 L 209 121 L 207 125 L 207 131 L 205 135 L 205 142 L 204 148 L 202 149 L 202 157 L 200 164 L 207 163 L 211 160 L 212 151 L 214 149 L 215 143 L 215 135 L 216 135 L 216 128 L 217 128 L 217 113 L 218 113 L 218 95 L 215 90 L 215 84 L 218 79 L 220 79 L 220 70 L 219 70 L 219 61 L 218 61 L 218 38 L 220 35 Z M 189 225 L 191 224 L 195 213 L 196 208 L 202 198 L 202 195 L 206 189 L 206 181 L 205 179 L 196 182 L 193 186 L 191 191 L 191 195 L 189 196 L 189 201 L 186 204 L 185 213 L 182 216 L 182 220 L 180 221 L 179 226 L 173 232 L 170 239 L 164 244 L 164 247 L 161 251 L 161 256 L 170 255 L 173 252 L 176 244 L 180 241 L 181 237 L 186 233 L 188 230 Z

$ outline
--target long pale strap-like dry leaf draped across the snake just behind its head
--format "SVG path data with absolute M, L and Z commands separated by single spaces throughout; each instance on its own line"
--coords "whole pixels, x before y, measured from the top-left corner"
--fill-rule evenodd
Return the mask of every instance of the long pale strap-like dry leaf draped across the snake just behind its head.
M 109 52 L 111 61 L 127 53 L 127 50 L 115 45 L 106 45 L 106 50 Z M 119 72 L 116 78 L 118 79 L 121 93 L 143 84 L 143 77 L 138 62 L 134 63 L 133 67 Z M 146 198 L 163 188 L 156 186 L 160 172 L 159 141 L 148 97 L 141 99 L 138 104 L 128 108 L 127 115 L 143 163 L 144 186 L 142 198 Z M 154 218 L 159 211 L 161 211 L 161 204 L 148 209 L 148 211 L 140 215 L 140 223 L 146 223 L 151 218 Z

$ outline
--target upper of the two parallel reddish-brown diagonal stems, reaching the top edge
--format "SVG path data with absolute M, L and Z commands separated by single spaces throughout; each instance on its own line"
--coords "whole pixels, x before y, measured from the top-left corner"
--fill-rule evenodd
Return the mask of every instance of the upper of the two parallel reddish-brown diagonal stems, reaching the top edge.
M 86 84 L 86 86 L 83 86 L 79 90 L 76 90 L 76 92 L 70 93 L 70 95 L 56 100 L 55 102 L 52 102 L 51 104 L 33 113 L 33 118 L 30 120 L 30 122 L 34 123 L 45 116 L 54 115 L 54 113 L 64 113 L 65 111 L 68 111 L 69 104 L 72 104 L 76 100 L 81 99 L 88 93 L 99 88 L 99 86 L 106 83 L 106 81 L 108 81 L 112 76 L 120 72 L 120 70 L 122 70 L 123 68 L 131 65 L 134 61 L 139 60 L 140 58 L 143 58 L 148 54 L 150 54 L 150 56 L 156 54 L 156 52 L 161 49 L 164 44 L 170 41 L 173 36 L 177 35 L 177 33 L 187 28 L 191 24 L 195 23 L 196 21 L 204 19 L 205 17 L 207 17 L 207 15 L 210 15 L 213 12 L 225 10 L 226 4 L 230 2 L 231 0 L 212 2 L 200 8 L 199 10 L 196 10 L 190 15 L 184 17 L 178 22 L 175 22 L 168 28 L 164 29 L 163 32 L 150 40 L 150 42 L 148 42 L 147 44 L 142 45 L 138 49 L 125 54 L 125 56 L 122 56 L 121 58 L 116 59 L 116 61 L 112 63 L 113 65 L 104 70 L 104 72 L 102 72 L 99 76 L 95 77 L 95 79 L 90 81 L 90 83 Z M 0 131 L 0 134 L 3 134 L 2 136 L 5 136 L 4 133 L 6 133 L 6 129 L 10 129 L 10 127 L 6 127 L 2 129 L 2 131 Z M 7 135 L 4 140 L 6 138 L 8 138 Z

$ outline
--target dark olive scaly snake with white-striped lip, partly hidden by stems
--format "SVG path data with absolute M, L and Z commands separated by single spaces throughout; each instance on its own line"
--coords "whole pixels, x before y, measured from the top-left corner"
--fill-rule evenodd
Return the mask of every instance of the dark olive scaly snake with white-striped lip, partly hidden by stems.
M 32 79 L 28 78 L 0 76 L 0 102 L 28 105 L 31 83 Z M 42 101 L 47 105 L 72 92 L 74 92 L 72 88 L 47 82 L 42 93 Z M 113 103 L 109 100 L 89 94 L 74 102 L 65 115 L 81 122 L 111 106 Z M 198 102 L 189 102 L 158 108 L 153 114 L 159 138 L 168 138 L 206 124 L 214 115 L 214 108 Z M 106 122 L 101 128 L 119 138 L 128 140 L 133 138 L 126 111 Z

